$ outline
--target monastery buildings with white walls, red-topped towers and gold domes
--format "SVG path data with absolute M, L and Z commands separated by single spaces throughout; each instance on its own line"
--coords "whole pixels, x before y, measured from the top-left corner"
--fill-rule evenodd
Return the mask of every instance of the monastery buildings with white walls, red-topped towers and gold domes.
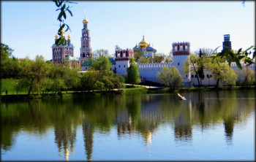
M 82 36 L 80 38 L 81 46 L 80 46 L 80 58 L 74 58 L 74 46 L 71 44 L 70 36 L 67 36 L 67 45 L 64 46 L 56 46 L 53 44 L 53 62 L 54 63 L 69 63 L 69 66 L 80 66 L 82 71 L 87 71 L 91 65 L 89 58 L 91 58 L 91 37 L 88 28 L 89 21 L 85 18 L 83 20 L 83 28 L 82 28 Z M 62 33 L 64 36 L 64 32 Z M 58 36 L 56 36 L 58 39 Z M 230 35 L 224 35 L 224 42 L 223 42 L 223 50 L 225 47 L 231 50 L 231 42 L 230 42 Z M 143 57 L 154 57 L 154 53 L 157 50 L 152 47 L 143 36 L 142 41 L 136 45 L 133 49 L 126 49 L 126 50 L 116 50 L 116 57 L 115 60 L 111 59 L 110 62 L 112 63 L 111 69 L 116 74 L 120 74 L 125 76 L 127 74 L 127 68 L 129 67 L 129 58 L 134 57 L 134 50 L 142 50 Z M 173 51 L 173 63 L 138 63 L 140 78 L 150 82 L 160 82 L 157 80 L 157 72 L 161 72 L 164 66 L 176 66 L 178 72 L 180 72 L 181 77 L 184 80 L 183 87 L 190 87 L 192 85 L 197 85 L 197 77 L 195 74 L 184 74 L 182 73 L 182 67 L 184 61 L 190 55 L 190 43 L 189 42 L 173 42 L 172 44 L 172 51 Z M 244 67 L 244 63 L 241 63 Z M 231 63 L 231 67 L 236 70 L 240 70 L 237 68 L 236 63 Z M 250 68 L 255 70 L 255 64 L 251 65 Z M 216 85 L 216 81 L 213 79 L 211 72 L 204 72 L 204 78 L 200 80 L 202 85 Z M 223 85 L 220 82 L 219 85 Z

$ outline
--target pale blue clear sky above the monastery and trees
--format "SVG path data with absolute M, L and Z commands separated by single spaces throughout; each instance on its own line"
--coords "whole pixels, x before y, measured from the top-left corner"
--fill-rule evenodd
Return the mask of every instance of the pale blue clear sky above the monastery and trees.
M 71 28 L 75 57 L 80 55 L 83 19 L 89 20 L 92 50 L 135 47 L 143 34 L 158 53 L 169 53 L 173 42 L 190 42 L 191 51 L 222 46 L 230 34 L 233 50 L 255 45 L 255 1 L 77 1 Z M 1 1 L 1 42 L 15 57 L 52 58 L 59 23 L 53 1 Z M 219 48 L 221 50 L 221 48 Z

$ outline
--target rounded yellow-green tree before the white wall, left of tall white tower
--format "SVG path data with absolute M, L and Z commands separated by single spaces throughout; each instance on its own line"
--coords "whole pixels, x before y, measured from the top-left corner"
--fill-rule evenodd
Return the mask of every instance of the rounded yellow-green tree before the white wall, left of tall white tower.
M 178 69 L 175 66 L 168 68 L 167 66 L 162 68 L 161 72 L 157 73 L 157 78 L 162 84 L 170 87 L 171 89 L 181 87 L 183 79 L 179 74 Z

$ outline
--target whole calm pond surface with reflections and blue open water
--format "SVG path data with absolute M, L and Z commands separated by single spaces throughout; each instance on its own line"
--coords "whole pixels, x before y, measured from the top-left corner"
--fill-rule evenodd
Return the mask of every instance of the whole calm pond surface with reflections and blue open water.
M 1 103 L 1 161 L 254 161 L 255 90 Z

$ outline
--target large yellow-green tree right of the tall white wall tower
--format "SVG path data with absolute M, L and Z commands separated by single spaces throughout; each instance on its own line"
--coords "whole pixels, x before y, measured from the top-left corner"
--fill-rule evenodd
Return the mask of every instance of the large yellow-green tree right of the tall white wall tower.
M 216 87 L 219 87 L 219 81 L 224 82 L 227 85 L 236 85 L 237 75 L 234 70 L 227 65 L 221 58 L 210 58 L 206 64 L 206 69 L 211 72 L 214 79 L 217 80 Z

